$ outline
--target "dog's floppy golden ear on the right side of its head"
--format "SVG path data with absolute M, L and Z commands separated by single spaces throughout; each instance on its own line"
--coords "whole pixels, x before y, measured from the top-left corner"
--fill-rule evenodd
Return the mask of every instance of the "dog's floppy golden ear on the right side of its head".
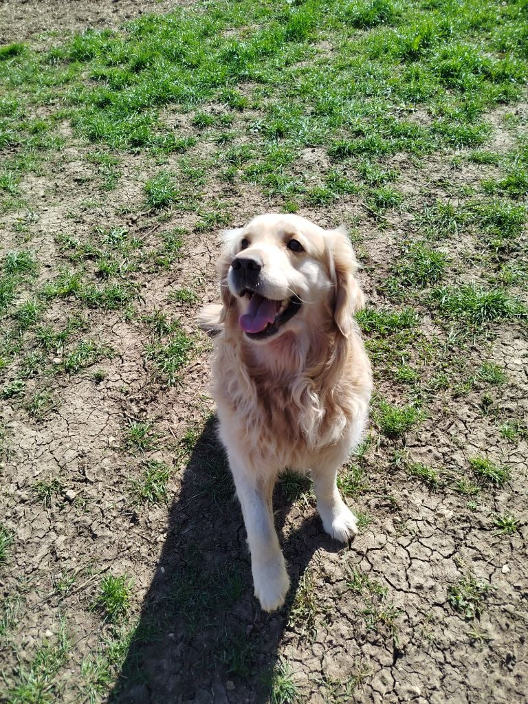
M 363 291 L 354 274 L 359 268 L 345 227 L 327 232 L 329 270 L 334 284 L 334 320 L 339 332 L 348 337 L 353 326 L 353 315 L 365 306 Z

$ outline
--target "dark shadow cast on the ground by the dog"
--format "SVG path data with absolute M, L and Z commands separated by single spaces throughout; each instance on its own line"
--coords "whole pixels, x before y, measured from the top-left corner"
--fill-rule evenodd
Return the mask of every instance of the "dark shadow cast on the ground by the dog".
M 281 540 L 291 589 L 268 614 L 253 596 L 241 510 L 215 419 L 207 422 L 172 505 L 163 551 L 111 702 L 230 704 L 265 701 L 277 649 L 313 553 L 339 548 L 315 515 Z M 290 509 L 275 491 L 280 531 Z M 160 531 L 163 526 L 160 526 Z

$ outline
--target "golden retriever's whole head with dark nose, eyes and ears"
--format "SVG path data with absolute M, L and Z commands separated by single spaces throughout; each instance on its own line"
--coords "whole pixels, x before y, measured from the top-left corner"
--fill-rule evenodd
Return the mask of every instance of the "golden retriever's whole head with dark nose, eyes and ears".
M 225 313 L 237 308 L 246 339 L 265 342 L 331 317 L 345 337 L 363 294 L 344 230 L 271 213 L 224 233 L 219 263 Z

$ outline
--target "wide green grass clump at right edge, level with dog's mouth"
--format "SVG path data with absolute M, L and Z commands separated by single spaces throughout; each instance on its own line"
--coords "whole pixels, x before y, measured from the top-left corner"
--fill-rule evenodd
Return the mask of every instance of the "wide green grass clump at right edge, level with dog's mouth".
M 497 320 L 524 318 L 528 315 L 526 306 L 510 296 L 505 289 L 485 289 L 474 282 L 435 289 L 429 301 L 435 303 L 446 318 L 463 320 L 477 328 Z

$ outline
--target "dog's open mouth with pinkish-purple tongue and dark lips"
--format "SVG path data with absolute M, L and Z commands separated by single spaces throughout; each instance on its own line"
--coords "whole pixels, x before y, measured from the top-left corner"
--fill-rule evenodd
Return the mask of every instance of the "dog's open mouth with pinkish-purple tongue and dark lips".
M 240 316 L 239 324 L 246 335 L 253 340 L 275 335 L 280 327 L 293 318 L 301 308 L 301 301 L 297 296 L 274 301 L 249 289 L 246 289 L 243 295 L 249 296 L 249 307 L 246 313 Z

